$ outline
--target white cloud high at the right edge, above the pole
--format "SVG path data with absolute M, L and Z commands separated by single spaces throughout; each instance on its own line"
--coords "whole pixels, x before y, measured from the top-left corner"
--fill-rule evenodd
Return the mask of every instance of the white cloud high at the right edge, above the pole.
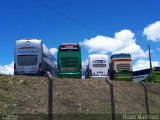
M 153 24 L 144 28 L 143 34 L 147 36 L 148 40 L 160 41 L 160 21 L 156 21 Z

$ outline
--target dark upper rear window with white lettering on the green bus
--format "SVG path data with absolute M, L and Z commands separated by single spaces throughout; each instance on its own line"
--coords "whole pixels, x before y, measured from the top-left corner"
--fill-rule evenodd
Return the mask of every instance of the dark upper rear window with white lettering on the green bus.
M 60 52 L 79 52 L 79 45 L 60 45 Z

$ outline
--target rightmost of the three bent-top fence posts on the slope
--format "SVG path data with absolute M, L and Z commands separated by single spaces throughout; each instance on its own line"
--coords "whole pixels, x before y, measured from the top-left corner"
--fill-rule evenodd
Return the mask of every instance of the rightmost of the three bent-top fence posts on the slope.
M 149 104 L 148 104 L 148 90 L 146 85 L 140 81 L 141 85 L 144 87 L 144 95 L 145 95 L 145 105 L 146 105 L 146 114 L 147 114 L 147 120 L 150 120 L 150 113 L 149 113 Z

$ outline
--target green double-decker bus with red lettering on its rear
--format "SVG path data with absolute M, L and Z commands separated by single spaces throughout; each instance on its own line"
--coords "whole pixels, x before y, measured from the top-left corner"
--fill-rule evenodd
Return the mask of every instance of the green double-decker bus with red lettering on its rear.
M 57 53 L 58 77 L 81 78 L 81 47 L 77 43 L 62 43 Z

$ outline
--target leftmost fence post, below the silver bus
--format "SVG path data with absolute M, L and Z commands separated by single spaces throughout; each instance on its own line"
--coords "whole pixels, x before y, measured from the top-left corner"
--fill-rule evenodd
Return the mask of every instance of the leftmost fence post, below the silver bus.
M 48 120 L 53 120 L 53 78 L 47 71 L 48 77 Z

